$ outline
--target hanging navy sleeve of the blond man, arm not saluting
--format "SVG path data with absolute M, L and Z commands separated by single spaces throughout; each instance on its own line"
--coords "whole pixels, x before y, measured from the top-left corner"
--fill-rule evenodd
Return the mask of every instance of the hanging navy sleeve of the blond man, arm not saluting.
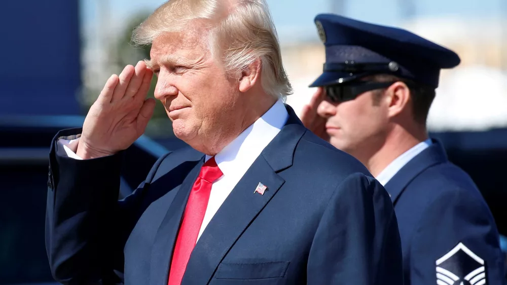
M 329 201 L 308 260 L 308 284 L 403 284 L 400 234 L 389 195 L 354 174 Z

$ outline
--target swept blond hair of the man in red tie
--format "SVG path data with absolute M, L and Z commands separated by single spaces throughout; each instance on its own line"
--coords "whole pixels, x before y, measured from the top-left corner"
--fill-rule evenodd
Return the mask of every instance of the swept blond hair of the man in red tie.
M 208 30 L 208 48 L 227 71 L 242 70 L 260 59 L 264 91 L 282 98 L 292 93 L 265 0 L 170 0 L 134 30 L 132 40 L 149 45 L 191 22 Z

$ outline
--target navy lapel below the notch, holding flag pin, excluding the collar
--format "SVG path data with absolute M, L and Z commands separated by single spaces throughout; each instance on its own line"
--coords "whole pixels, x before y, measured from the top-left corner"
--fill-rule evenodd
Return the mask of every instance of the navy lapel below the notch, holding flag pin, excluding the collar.
M 268 188 L 254 193 L 259 182 Z M 259 156 L 213 216 L 190 256 L 184 284 L 207 284 L 216 267 L 248 224 L 285 181 Z

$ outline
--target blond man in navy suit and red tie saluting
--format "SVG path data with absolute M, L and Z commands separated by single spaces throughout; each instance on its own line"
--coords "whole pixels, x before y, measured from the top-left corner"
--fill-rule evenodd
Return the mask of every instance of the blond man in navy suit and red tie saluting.
M 51 145 L 58 281 L 402 284 L 387 192 L 283 104 L 291 86 L 264 1 L 170 1 L 134 39 L 152 43 L 151 59 L 108 79 L 83 128 Z M 153 113 L 152 71 L 192 148 L 161 157 L 118 201 L 122 151 Z

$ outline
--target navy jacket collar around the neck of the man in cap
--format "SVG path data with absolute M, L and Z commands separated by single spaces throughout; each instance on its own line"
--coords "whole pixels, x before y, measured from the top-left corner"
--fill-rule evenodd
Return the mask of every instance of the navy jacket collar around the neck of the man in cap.
M 400 171 L 398 171 L 385 185 L 385 189 L 391 195 L 391 201 L 396 205 L 397 199 L 407 185 L 427 168 L 442 164 L 447 161 L 445 149 L 438 140 L 432 140 L 432 144 L 421 153 L 412 158 Z

